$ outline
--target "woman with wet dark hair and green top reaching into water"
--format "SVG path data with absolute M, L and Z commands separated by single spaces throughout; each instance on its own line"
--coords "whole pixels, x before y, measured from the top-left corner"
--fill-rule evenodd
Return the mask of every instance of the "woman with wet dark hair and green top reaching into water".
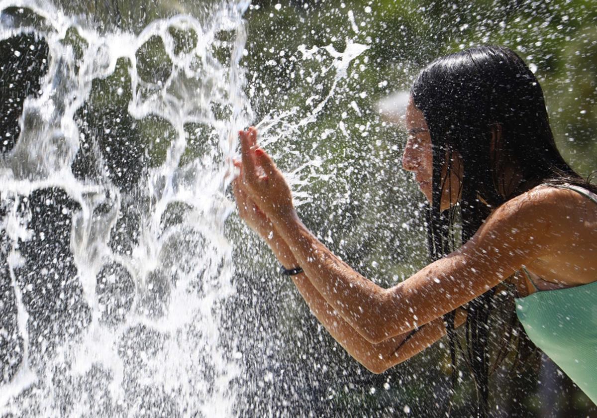
M 242 219 L 319 321 L 374 373 L 466 322 L 479 412 L 487 414 L 489 311 L 496 286 L 515 281 L 530 294 L 516 311 L 531 340 L 596 402 L 597 190 L 559 155 L 533 73 L 507 48 L 441 57 L 414 82 L 406 124 L 402 164 L 429 201 L 435 260 L 407 280 L 380 288 L 319 242 L 254 128 L 241 131 L 235 162 Z

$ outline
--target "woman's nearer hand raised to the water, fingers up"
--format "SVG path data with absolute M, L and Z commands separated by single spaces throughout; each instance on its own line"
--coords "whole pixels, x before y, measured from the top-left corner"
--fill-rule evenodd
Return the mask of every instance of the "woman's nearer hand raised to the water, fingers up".
M 257 129 L 240 131 L 242 169 L 239 175 L 242 189 L 257 204 L 259 210 L 273 222 L 285 222 L 296 217 L 290 188 L 272 158 L 257 146 Z

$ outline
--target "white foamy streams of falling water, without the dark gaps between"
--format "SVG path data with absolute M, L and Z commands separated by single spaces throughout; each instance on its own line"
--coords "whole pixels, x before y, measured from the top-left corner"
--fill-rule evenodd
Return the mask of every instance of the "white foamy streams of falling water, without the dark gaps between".
M 0 386 L 0 414 L 20 413 L 28 408 L 42 416 L 60 416 L 60 407 L 77 414 L 105 414 L 82 395 L 85 379 L 93 379 L 95 369 L 109 374 L 107 382 L 91 383 L 95 391 L 106 391 L 112 404 L 138 407 L 128 386 L 147 386 L 165 395 L 177 394 L 174 404 L 179 411 L 204 411 L 206 416 L 230 416 L 235 404 L 233 379 L 241 370 L 239 359 L 228 359 L 221 350 L 218 306 L 235 292 L 231 284 L 232 249 L 223 233 L 223 223 L 232 203 L 224 190 L 232 177 L 229 162 L 236 145 L 236 128 L 246 126 L 251 109 L 243 93 L 244 70 L 239 60 L 244 51 L 246 33 L 242 13 L 249 2 L 222 4 L 211 20 L 199 22 L 188 15 L 158 19 L 140 33 L 124 30 L 99 32 L 85 19 L 68 16 L 51 4 L 34 0 L 0 1 L 0 10 L 7 7 L 29 8 L 46 20 L 45 29 L 35 28 L 49 47 L 48 72 L 41 80 L 42 94 L 24 100 L 20 119 L 19 141 L 6 158 L 0 159 L 0 204 L 10 208 L 2 223 L 11 250 L 9 266 L 17 306 L 17 329 L 23 341 L 23 357 L 10 382 Z M 3 21 L 0 39 L 6 39 L 33 28 L 13 27 L 12 20 Z M 195 47 L 175 53 L 171 28 L 192 31 L 198 38 Z M 85 41 L 81 58 L 64 44 L 70 28 Z M 217 34 L 233 35 L 230 64 L 219 62 L 211 46 Z M 164 43 L 171 60 L 170 76 L 161 83 L 143 81 L 137 73 L 137 51 L 153 36 Z M 122 86 L 118 96 L 132 94 L 128 112 L 136 119 L 159 116 L 175 133 L 162 164 L 150 168 L 136 193 L 135 201 L 110 181 L 106 170 L 99 178 L 77 179 L 70 167 L 81 143 L 76 112 L 90 99 L 92 81 L 112 75 L 120 58 L 129 60 L 131 91 Z M 78 70 L 77 70 L 78 69 Z M 216 118 L 213 103 L 228 106 L 232 112 L 225 119 Z M 33 123 L 32 123 L 33 122 Z M 182 165 L 187 146 L 185 126 L 200 123 L 211 127 L 216 140 L 206 155 Z M 100 164 L 103 161 L 101 153 Z M 23 303 L 18 271 L 27 265 L 15 250 L 17 242 L 29 241 L 27 205 L 17 210 L 24 196 L 35 190 L 59 188 L 80 205 L 73 211 L 70 250 L 78 272 L 83 304 L 91 311 L 91 321 L 75 340 L 56 347 L 50 357 L 41 356 L 44 364 L 29 364 L 29 315 Z M 147 201 L 148 204 L 143 202 Z M 184 202 L 187 209 L 181 224 L 165 228 L 162 218 L 170 204 Z M 96 209 L 102 205 L 104 210 Z M 118 219 L 127 205 L 138 205 L 141 225 L 139 241 L 128 254 L 117 253 L 109 245 Z M 194 242 L 195 245 L 188 245 Z M 40 256 L 41 257 L 41 256 Z M 168 260 L 178 263 L 162 272 Z M 105 306 L 97 294 L 97 277 L 104 266 L 116 263 L 130 276 L 134 285 L 133 304 L 124 319 L 116 325 L 101 321 Z M 170 289 L 163 315 L 150 315 L 141 308 L 141 299 L 155 291 L 150 275 L 158 274 Z M 112 277 L 126 279 L 125 277 Z M 199 285 L 201 284 L 201 290 Z M 56 318 L 56 321 L 65 321 Z M 58 327 L 76 324 L 59 322 Z M 147 356 L 141 349 L 142 338 L 136 333 L 151 331 L 149 345 L 154 351 Z M 148 334 L 149 335 L 149 334 Z M 133 347 L 133 355 L 122 351 L 122 345 Z M 140 361 L 140 367 L 133 367 Z M 215 380 L 206 381 L 205 369 L 213 370 Z M 60 370 L 64 376 L 55 376 Z M 89 377 L 91 376 L 91 377 Z M 55 379 L 79 382 L 57 390 Z M 26 391 L 26 389 L 32 389 Z M 64 392 L 66 391 L 66 392 Z M 143 402 L 143 399 L 139 399 Z M 60 406 L 61 405 L 61 406 Z M 137 406 L 135 406 L 137 405 Z M 214 415 L 215 414 L 215 415 Z

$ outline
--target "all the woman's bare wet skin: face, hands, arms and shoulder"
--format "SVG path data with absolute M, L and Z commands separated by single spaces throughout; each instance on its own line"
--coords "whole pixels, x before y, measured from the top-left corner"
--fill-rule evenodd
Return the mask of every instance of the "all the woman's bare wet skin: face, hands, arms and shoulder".
M 404 152 L 404 168 L 413 171 L 429 198 L 431 155 L 425 142 L 429 139 L 430 145 L 430 137 L 423 115 L 412 104 L 407 128 L 414 135 Z M 239 136 L 242 161 L 236 165 L 241 173 L 234 183 L 239 214 L 282 265 L 303 268 L 304 273 L 293 280 L 310 309 L 349 354 L 374 373 L 444 336 L 442 315 L 522 266 L 556 287 L 587 284 L 596 278 L 596 205 L 571 190 L 538 186 L 497 208 L 454 253 L 398 285 L 381 288 L 334 256 L 303 225 L 282 173 L 257 146 L 255 128 Z M 446 191 L 442 194 L 448 205 L 454 201 Z M 458 310 L 456 325 L 465 317 Z

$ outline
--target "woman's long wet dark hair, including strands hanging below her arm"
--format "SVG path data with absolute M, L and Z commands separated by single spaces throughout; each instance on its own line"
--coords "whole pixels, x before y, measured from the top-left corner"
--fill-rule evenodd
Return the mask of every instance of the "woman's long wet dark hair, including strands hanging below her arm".
M 432 140 L 433 193 L 427 230 L 433 260 L 457 247 L 457 227 L 464 243 L 491 211 L 541 183 L 573 183 L 597 191 L 558 152 L 537 78 L 509 48 L 476 47 L 441 57 L 420 72 L 411 94 Z M 458 185 L 450 184 L 454 152 L 461 156 L 463 167 Z M 445 165 L 447 175 L 442 176 Z M 442 189 L 454 187 L 460 189 L 460 202 L 442 212 Z M 495 295 L 492 288 L 466 306 L 464 358 L 478 391 L 479 416 L 488 414 L 488 321 Z M 454 313 L 445 315 L 444 321 L 455 365 Z M 518 324 L 507 322 L 510 328 Z M 506 332 L 516 334 L 512 329 Z

